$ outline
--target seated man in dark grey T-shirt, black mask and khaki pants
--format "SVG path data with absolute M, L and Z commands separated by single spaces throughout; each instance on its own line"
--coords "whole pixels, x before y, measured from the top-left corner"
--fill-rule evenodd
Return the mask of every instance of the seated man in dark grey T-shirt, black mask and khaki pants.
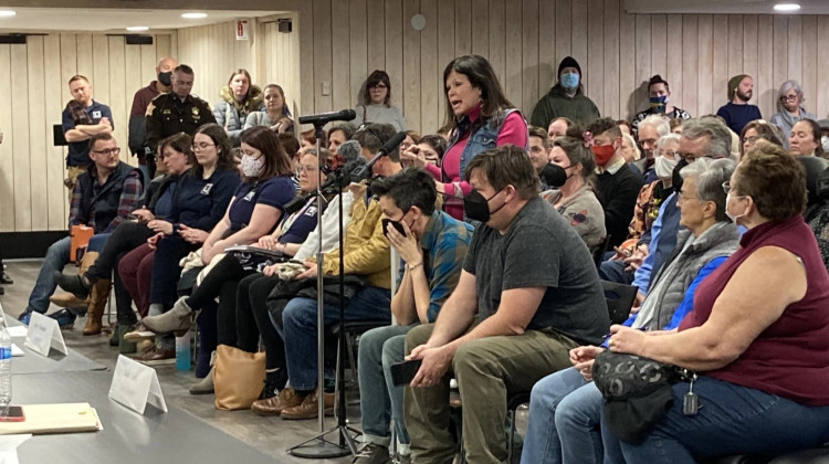
M 538 197 L 524 150 L 487 150 L 469 165 L 470 219 L 480 221 L 461 277 L 434 324 L 406 335 L 419 359 L 403 392 L 412 462 L 449 463 L 449 381 L 458 379 L 466 462 L 506 460 L 506 398 L 569 365 L 568 350 L 597 344 L 609 325 L 587 246 Z

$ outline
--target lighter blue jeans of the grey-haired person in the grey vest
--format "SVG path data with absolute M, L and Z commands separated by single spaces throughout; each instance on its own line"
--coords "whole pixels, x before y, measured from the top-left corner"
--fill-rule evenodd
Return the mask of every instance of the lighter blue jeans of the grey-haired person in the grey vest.
M 592 391 L 600 400 L 598 407 L 594 404 Z M 529 397 L 522 464 L 601 462 L 601 437 L 596 430 L 601 400 L 596 386 L 586 381 L 576 368 L 539 380 Z

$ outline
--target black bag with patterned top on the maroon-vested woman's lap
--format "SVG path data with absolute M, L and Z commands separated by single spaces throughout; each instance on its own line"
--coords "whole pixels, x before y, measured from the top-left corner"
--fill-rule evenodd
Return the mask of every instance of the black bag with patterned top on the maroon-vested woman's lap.
M 605 397 L 605 421 L 619 440 L 639 444 L 673 405 L 672 386 L 688 372 L 641 356 L 606 350 L 596 357 L 592 378 Z

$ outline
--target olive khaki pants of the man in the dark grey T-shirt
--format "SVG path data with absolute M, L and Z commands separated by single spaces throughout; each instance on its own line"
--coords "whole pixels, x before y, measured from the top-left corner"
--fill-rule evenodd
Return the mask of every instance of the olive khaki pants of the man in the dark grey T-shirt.
M 406 336 L 406 354 L 423 345 L 433 324 Z M 403 409 L 413 463 L 451 463 L 455 444 L 450 432 L 449 380 L 454 376 L 463 411 L 466 462 L 506 461 L 507 394 L 529 391 L 536 381 L 570 366 L 568 351 L 578 346 L 553 330 L 527 330 L 468 341 L 455 352 L 452 372 L 430 388 L 406 388 Z

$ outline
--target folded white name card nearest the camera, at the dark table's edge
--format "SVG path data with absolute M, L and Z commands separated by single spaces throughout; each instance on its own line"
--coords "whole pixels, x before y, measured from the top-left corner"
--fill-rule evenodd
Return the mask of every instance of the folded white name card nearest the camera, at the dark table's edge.
M 139 414 L 144 414 L 147 404 L 167 412 L 167 403 L 164 401 L 156 370 L 123 355 L 118 356 L 118 362 L 115 365 L 109 399 Z

